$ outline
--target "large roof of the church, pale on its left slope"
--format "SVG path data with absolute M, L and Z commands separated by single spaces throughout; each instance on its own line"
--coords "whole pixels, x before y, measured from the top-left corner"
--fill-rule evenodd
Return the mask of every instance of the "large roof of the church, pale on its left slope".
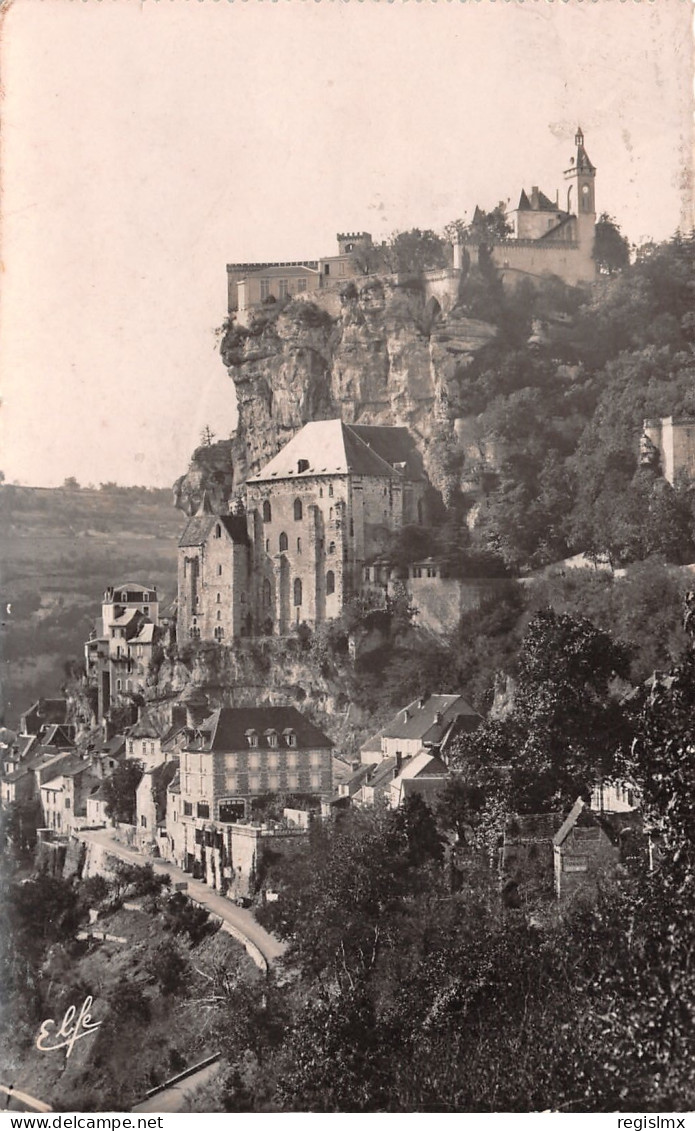
M 407 429 L 367 429 L 344 424 L 340 420 L 312 421 L 285 444 L 269 464 L 253 475 L 249 483 L 266 483 L 272 480 L 301 480 L 316 475 L 371 475 L 376 478 L 399 478 L 400 473 L 391 466 L 386 455 L 386 441 L 381 433 L 396 431 L 408 435 Z M 366 433 L 371 439 L 364 439 Z M 362 434 L 360 434 L 362 433 Z M 377 444 L 384 448 L 380 454 Z M 397 463 L 407 463 L 403 437 L 391 438 L 391 447 L 398 448 Z M 410 451 L 411 456 L 411 451 Z M 299 461 L 307 466 L 298 470 Z

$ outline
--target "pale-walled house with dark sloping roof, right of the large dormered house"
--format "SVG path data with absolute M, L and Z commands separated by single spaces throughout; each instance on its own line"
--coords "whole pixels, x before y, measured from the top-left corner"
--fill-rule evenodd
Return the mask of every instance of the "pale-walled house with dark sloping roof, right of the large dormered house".
M 428 694 L 414 699 L 360 748 L 363 762 L 414 758 L 422 751 L 446 756 L 457 734 L 477 729 L 483 716 L 463 696 Z

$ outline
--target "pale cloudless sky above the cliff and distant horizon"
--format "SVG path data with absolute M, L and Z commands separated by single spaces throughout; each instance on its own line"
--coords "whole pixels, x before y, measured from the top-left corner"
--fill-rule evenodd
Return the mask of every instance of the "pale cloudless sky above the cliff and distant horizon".
M 634 242 L 693 226 L 688 0 L 14 0 L 0 467 L 166 486 L 236 420 L 228 261 L 441 230 L 563 183 Z M 515 202 L 513 200 L 513 202 Z

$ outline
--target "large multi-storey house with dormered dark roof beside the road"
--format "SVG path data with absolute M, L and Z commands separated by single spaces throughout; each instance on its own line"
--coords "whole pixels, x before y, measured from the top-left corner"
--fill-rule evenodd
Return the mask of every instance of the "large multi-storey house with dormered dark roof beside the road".
M 331 749 L 330 739 L 294 707 L 218 708 L 181 751 L 179 779 L 167 791 L 166 830 L 175 863 L 186 871 L 197 860 L 200 864 L 197 846 L 206 838 L 209 848 L 220 851 L 227 826 L 250 815 L 254 797 L 330 797 Z M 208 853 L 208 863 L 212 858 Z

